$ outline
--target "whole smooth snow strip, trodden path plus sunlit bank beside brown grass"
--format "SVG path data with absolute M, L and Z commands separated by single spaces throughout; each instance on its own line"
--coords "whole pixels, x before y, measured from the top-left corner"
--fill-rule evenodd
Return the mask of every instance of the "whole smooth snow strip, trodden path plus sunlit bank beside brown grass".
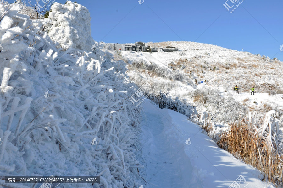
M 240 175 L 245 182 L 239 188 L 273 188 L 258 178 L 258 170 L 218 148 L 186 116 L 159 109 L 147 100 L 143 106 L 144 188 L 227 188 Z M 190 145 L 185 144 L 188 138 Z

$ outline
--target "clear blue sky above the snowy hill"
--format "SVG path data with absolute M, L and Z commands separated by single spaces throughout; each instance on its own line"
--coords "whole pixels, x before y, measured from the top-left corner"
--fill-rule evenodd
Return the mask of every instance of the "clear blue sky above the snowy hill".
M 36 1 L 36 0 L 31 0 Z M 241 0 L 228 0 L 240 3 Z M 9 1 L 11 2 L 11 1 Z M 65 0 L 56 2 L 65 3 Z M 89 9 L 92 37 L 111 43 L 195 41 L 283 61 L 283 1 L 77 0 Z

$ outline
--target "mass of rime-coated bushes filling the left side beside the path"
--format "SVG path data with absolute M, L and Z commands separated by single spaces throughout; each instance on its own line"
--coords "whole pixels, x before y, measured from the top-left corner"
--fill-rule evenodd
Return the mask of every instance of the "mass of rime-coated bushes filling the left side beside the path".
M 89 13 L 68 2 L 54 3 L 52 21 L 0 3 L 0 14 L 7 12 L 0 22 L 0 176 L 100 176 L 100 184 L 64 187 L 134 187 L 140 107 L 126 98 L 135 86 L 125 64 L 107 50 L 91 51 L 90 31 L 71 26 L 87 30 Z M 1 179 L 0 186 L 34 184 Z

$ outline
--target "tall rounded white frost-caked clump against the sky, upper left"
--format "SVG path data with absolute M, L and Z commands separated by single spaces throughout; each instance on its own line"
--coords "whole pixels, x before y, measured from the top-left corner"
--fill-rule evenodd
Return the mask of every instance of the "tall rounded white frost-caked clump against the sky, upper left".
M 64 5 L 55 2 L 50 10 L 48 18 L 52 25 L 48 28 L 48 35 L 53 41 L 57 41 L 63 49 L 90 49 L 93 45 L 91 17 L 86 7 L 67 1 Z

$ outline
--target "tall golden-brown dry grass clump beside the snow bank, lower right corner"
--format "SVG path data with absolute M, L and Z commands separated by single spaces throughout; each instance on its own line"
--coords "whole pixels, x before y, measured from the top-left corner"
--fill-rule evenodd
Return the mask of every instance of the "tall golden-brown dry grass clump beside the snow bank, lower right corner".
M 230 130 L 220 135 L 217 145 L 234 154 L 238 159 L 253 165 L 264 175 L 264 180 L 269 180 L 276 185 L 282 184 L 283 156 L 277 153 L 278 145 L 270 143 L 268 135 L 260 135 L 255 125 L 248 123 L 246 118 L 229 123 Z M 265 132 L 271 133 L 269 124 Z

